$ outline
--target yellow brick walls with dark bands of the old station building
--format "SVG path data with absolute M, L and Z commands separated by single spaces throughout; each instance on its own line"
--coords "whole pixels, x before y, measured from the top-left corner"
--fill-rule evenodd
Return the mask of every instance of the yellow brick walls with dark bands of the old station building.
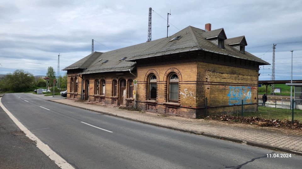
M 173 57 L 163 56 L 157 59 L 138 60 L 137 71 L 133 71 L 134 74 L 137 74 L 137 77 L 129 72 L 84 74 L 82 76 L 85 92 L 87 91 L 85 81 L 88 80 L 90 84 L 89 101 L 120 105 L 120 79 L 126 79 L 127 96 L 129 95 L 128 79 L 136 79 L 138 81 L 138 108 L 159 114 L 196 118 L 206 113 L 206 98 L 208 100 L 207 106 L 211 106 L 213 112 L 215 110 L 215 112 L 220 113 L 226 110 L 221 105 L 226 105 L 228 107 L 227 111 L 232 111 L 232 106 L 240 100 L 244 100 L 246 104 L 256 103 L 258 98 L 258 70 L 259 65 L 253 61 L 204 51 L 194 51 L 174 54 Z M 117 73 L 123 73 L 124 75 L 116 75 Z M 168 79 L 172 73 L 177 74 L 179 78 L 179 97 L 176 102 L 169 102 L 168 100 Z M 78 93 L 74 94 L 69 91 L 70 77 L 78 75 L 76 72 L 68 72 L 67 74 L 69 76 L 68 97 L 76 98 L 75 95 L 77 95 L 77 99 L 81 99 L 81 78 L 78 78 Z M 153 100 L 148 99 L 148 78 L 151 74 L 154 74 L 157 79 L 157 97 Z M 106 94 L 104 96 L 95 95 L 94 93 L 96 79 L 106 80 Z M 112 81 L 114 79 L 117 80 L 118 86 L 116 97 L 112 95 Z M 133 99 L 128 98 L 126 105 L 132 106 Z M 250 109 L 253 106 L 246 105 L 245 107 Z

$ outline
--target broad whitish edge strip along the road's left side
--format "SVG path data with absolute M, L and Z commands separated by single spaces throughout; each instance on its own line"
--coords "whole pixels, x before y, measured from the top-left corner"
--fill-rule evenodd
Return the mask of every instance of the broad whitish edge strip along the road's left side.
M 65 161 L 61 156 L 55 153 L 47 144 L 44 144 L 38 137 L 32 134 L 11 112 L 9 112 L 2 104 L 0 97 L 0 106 L 6 112 L 6 114 L 14 121 L 14 123 L 26 134 L 28 138 L 36 141 L 37 147 L 51 160 L 53 160 L 62 169 L 74 169 L 67 161 Z

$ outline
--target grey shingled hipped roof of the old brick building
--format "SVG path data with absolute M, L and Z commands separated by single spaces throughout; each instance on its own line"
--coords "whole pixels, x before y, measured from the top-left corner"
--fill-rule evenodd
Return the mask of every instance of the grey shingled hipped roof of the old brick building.
M 77 61 L 70 66 L 67 66 L 63 70 L 70 69 L 83 69 L 80 74 L 100 73 L 110 71 L 128 71 L 135 68 L 135 61 L 138 59 L 144 59 L 149 57 L 155 57 L 159 55 L 167 55 L 172 53 L 187 52 L 192 50 L 204 50 L 207 52 L 213 52 L 231 57 L 237 57 L 241 59 L 247 59 L 259 62 L 260 65 L 269 64 L 268 62 L 257 58 L 256 56 L 245 52 L 240 53 L 238 50 L 225 45 L 225 49 L 220 49 L 217 45 L 213 44 L 206 38 L 225 36 L 223 28 L 212 31 L 204 31 L 199 28 L 188 26 L 181 31 L 175 33 L 168 38 L 160 38 L 150 42 L 142 44 L 132 45 L 121 49 L 116 49 L 108 52 L 94 52 L 86 56 L 85 58 Z M 177 41 L 171 41 L 172 38 L 181 36 Z M 225 36 L 226 38 L 226 36 Z M 232 39 L 232 38 L 231 38 Z M 245 39 L 245 38 L 244 38 Z M 227 39 L 226 39 L 227 41 Z M 119 61 L 121 58 L 127 57 L 126 60 Z M 102 59 L 101 61 L 99 61 Z M 103 61 L 109 60 L 107 63 Z

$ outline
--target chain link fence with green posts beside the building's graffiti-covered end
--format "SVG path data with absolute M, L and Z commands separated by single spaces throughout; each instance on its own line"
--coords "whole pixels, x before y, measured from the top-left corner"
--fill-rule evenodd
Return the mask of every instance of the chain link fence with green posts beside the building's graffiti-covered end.
M 242 117 L 260 117 L 268 120 L 302 121 L 302 103 L 299 100 L 268 99 L 230 100 L 206 98 L 207 115 L 227 114 Z

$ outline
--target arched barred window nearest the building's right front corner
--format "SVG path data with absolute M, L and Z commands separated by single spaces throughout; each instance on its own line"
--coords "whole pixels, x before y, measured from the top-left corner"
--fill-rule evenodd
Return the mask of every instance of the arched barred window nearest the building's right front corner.
M 169 93 L 168 100 L 171 102 L 178 102 L 178 76 L 177 74 L 171 74 L 169 78 Z

